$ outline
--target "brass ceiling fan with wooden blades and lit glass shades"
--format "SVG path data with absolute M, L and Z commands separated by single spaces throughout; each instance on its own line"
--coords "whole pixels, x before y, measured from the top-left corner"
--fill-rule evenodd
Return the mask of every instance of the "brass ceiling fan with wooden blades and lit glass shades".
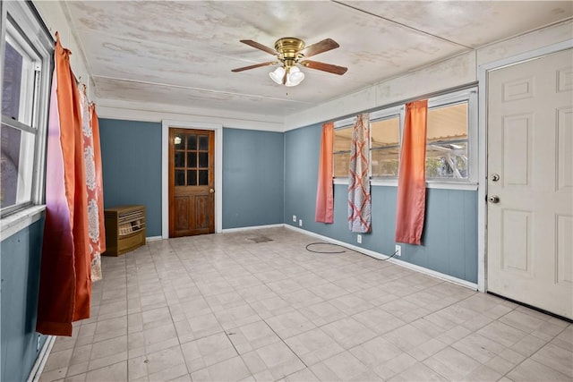
M 250 69 L 260 68 L 261 66 L 281 64 L 281 66 L 279 66 L 275 71 L 269 72 L 269 76 L 272 81 L 286 86 L 296 86 L 304 80 L 304 72 L 300 71 L 297 64 L 300 64 L 305 68 L 316 69 L 338 75 L 342 75 L 348 70 L 348 68 L 345 68 L 344 66 L 325 64 L 306 59 L 312 55 L 318 55 L 339 47 L 338 43 L 331 38 L 323 39 L 309 47 L 305 47 L 304 41 L 300 38 L 279 38 L 275 43 L 274 49 L 266 47 L 251 39 L 242 39 L 241 42 L 250 47 L 261 49 L 263 52 L 269 53 L 269 55 L 276 55 L 277 61 L 244 66 L 242 68 L 233 69 L 231 72 L 243 72 Z

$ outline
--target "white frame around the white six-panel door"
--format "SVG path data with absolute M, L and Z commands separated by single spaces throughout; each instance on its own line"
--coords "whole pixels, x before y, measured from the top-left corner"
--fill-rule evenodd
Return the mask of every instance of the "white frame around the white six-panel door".
M 519 55 L 502 58 L 492 63 L 478 65 L 478 156 L 479 156 L 479 181 L 477 191 L 477 289 L 480 292 L 487 292 L 487 106 L 488 87 L 487 74 L 490 71 L 501 69 L 505 66 L 520 64 L 543 55 L 551 55 L 561 50 L 573 47 L 573 39 L 552 44 L 547 47 L 540 47 Z

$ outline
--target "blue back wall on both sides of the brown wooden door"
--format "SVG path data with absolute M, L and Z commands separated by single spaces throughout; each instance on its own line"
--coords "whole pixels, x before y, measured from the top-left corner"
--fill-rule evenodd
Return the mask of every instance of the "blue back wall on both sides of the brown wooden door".
M 142 204 L 147 235 L 161 235 L 161 123 L 99 119 L 106 208 Z M 223 130 L 226 228 L 283 222 L 284 134 Z

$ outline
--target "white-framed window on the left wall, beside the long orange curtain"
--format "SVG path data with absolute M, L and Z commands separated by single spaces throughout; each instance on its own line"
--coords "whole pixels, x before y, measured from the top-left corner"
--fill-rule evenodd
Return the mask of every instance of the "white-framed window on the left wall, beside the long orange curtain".
M 6 2 L 2 52 L 0 211 L 5 216 L 43 195 L 52 41 L 30 4 Z M 5 25 L 5 27 L 4 27 Z

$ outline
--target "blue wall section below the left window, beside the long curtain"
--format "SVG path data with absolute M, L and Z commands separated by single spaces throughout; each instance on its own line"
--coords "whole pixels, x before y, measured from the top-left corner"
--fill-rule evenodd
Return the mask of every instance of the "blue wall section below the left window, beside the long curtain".
M 0 247 L 2 288 L 2 369 L 0 380 L 24 381 L 38 357 L 39 267 L 44 221 L 40 219 L 5 239 Z M 46 336 L 40 336 L 40 349 Z

